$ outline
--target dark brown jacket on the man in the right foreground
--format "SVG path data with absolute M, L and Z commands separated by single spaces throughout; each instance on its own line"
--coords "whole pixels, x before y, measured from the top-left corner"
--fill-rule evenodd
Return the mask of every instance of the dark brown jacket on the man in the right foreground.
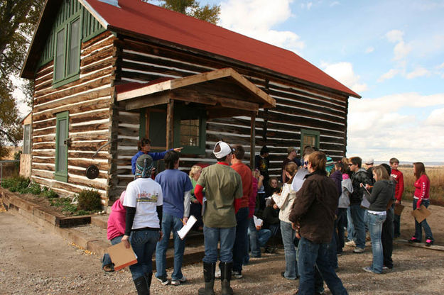
M 296 193 L 289 219 L 299 223 L 300 236 L 313 243 L 330 243 L 337 201 L 337 189 L 332 179 L 323 172 L 307 174 Z

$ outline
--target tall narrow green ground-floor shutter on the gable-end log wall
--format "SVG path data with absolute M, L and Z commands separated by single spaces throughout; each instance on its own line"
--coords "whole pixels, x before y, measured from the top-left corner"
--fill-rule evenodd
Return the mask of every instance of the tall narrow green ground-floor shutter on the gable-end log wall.
M 68 143 L 69 113 L 64 111 L 57 114 L 55 128 L 55 173 L 54 178 L 67 182 L 67 143 Z

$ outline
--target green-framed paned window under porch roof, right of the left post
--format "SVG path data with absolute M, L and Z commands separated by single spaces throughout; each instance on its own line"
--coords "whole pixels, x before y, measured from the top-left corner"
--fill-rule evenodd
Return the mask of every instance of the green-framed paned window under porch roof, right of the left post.
M 175 108 L 174 147 L 183 147 L 182 152 L 205 153 L 205 110 L 188 106 Z

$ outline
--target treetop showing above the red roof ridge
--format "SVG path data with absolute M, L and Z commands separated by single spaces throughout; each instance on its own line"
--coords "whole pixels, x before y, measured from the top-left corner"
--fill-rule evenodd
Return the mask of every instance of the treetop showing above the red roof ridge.
M 187 16 L 216 24 L 219 21 L 220 5 L 210 6 L 206 4 L 200 6 L 196 0 L 158 0 L 162 7 L 183 13 Z

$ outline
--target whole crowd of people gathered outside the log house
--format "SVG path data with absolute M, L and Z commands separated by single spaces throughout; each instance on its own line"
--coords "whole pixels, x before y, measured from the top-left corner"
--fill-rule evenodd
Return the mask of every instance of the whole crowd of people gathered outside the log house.
M 215 144 L 217 163 L 194 165 L 189 175 L 178 169 L 181 148 L 152 153 L 143 139 L 131 160 L 134 181 L 112 206 L 108 240 L 133 248 L 137 263 L 129 268 L 138 294 L 149 294 L 156 255 L 156 279 L 163 285 L 186 282 L 182 273 L 185 241 L 178 230 L 195 216 L 205 244 L 200 295 L 213 295 L 220 279 L 222 295 L 233 294 L 232 277 L 243 277 L 242 267 L 261 252 L 275 252 L 283 244 L 286 261 L 281 276 L 299 279 L 296 294 L 323 294 L 324 282 L 332 294 L 347 294 L 339 277 L 337 257 L 345 246 L 364 252 L 366 233 L 372 243 L 372 265 L 365 272 L 381 274 L 393 269 L 393 240 L 400 235 L 400 208 L 404 177 L 399 160 L 374 166 L 360 157 L 333 162 L 307 146 L 300 158 L 288 148 L 280 179 L 269 175 L 269 148 L 261 148 L 255 167 L 244 164 L 242 145 Z M 163 158 L 166 169 L 154 177 L 153 162 Z M 413 163 L 416 176 L 413 210 L 429 206 L 430 180 L 421 162 Z M 154 179 L 153 179 L 154 178 Z M 281 182 L 281 183 L 280 183 Z M 415 221 L 409 243 L 426 245 L 433 235 L 426 219 Z M 173 233 L 174 268 L 168 279 L 166 250 Z M 218 245 L 220 249 L 218 250 Z M 262 249 L 262 250 L 261 250 Z M 217 261 L 220 261 L 217 267 Z M 112 272 L 109 255 L 102 269 Z

